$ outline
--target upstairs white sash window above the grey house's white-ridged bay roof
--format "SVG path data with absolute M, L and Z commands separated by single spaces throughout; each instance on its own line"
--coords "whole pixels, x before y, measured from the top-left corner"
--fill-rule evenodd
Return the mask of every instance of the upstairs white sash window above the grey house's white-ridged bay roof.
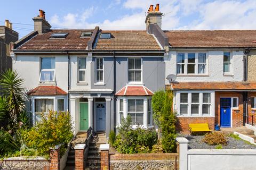
M 141 58 L 128 58 L 128 81 L 141 82 Z

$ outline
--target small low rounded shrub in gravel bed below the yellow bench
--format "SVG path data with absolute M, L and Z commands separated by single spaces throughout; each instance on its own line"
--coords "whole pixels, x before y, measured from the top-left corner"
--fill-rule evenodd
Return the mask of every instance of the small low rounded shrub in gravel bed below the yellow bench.
M 206 134 L 202 141 L 208 145 L 227 145 L 226 135 L 218 132 Z

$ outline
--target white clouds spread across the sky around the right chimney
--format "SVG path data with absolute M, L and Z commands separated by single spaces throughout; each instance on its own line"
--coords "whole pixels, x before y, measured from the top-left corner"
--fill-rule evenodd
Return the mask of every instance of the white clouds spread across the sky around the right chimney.
M 90 7 L 81 13 L 68 13 L 65 16 L 53 15 L 50 23 L 57 27 L 93 29 L 99 25 L 105 30 L 144 30 L 145 12 L 150 4 L 160 4 L 165 13 L 162 28 L 171 29 L 255 29 L 256 1 L 215 0 L 120 0 L 113 1 L 110 7 L 122 5 L 130 14 L 118 16 L 115 20 L 105 19 L 102 22 L 87 21 L 97 14 L 97 7 Z M 99 10 L 100 11 L 100 10 Z M 195 18 L 196 16 L 196 18 Z M 182 22 L 183 21 L 183 22 Z M 184 23 L 184 21 L 186 21 Z

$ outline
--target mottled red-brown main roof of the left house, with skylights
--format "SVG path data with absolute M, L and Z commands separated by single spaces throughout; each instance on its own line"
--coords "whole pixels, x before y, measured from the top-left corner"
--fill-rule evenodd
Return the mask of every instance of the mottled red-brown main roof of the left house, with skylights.
M 66 50 L 86 50 L 87 43 L 90 37 L 80 38 L 82 32 L 89 32 L 93 30 L 50 30 L 49 32 L 38 34 L 28 40 L 23 45 L 19 46 L 17 50 L 25 51 L 66 51 Z M 66 38 L 51 38 L 53 33 L 67 32 Z

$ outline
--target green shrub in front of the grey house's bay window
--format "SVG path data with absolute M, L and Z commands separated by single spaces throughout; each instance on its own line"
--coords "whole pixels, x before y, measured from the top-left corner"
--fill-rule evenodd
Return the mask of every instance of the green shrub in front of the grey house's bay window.
M 148 153 L 157 143 L 157 133 L 150 129 L 132 129 L 131 117 L 122 120 L 113 147 L 121 154 Z

